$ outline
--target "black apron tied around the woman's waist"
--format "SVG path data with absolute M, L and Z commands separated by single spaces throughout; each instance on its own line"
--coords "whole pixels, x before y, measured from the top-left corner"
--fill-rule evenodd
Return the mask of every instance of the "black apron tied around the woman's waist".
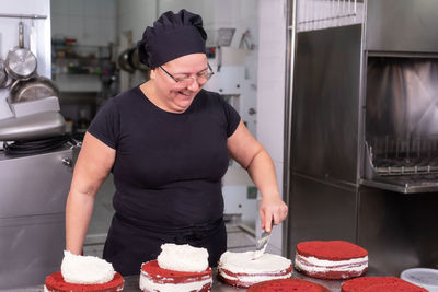
M 141 264 L 157 259 L 161 245 L 165 243 L 207 248 L 209 266 L 216 267 L 219 257 L 227 250 L 223 218 L 187 227 L 169 227 L 152 226 L 116 213 L 106 237 L 103 258 L 112 262 L 122 276 L 139 275 Z

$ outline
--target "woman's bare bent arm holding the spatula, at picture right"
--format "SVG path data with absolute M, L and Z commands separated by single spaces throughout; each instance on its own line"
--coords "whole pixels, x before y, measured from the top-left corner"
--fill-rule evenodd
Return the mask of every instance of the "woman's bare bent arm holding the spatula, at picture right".
M 270 233 L 272 222 L 275 225 L 279 224 L 288 213 L 288 207 L 281 200 L 278 191 L 273 160 L 246 129 L 242 120 L 233 135 L 228 138 L 227 147 L 230 155 L 247 171 L 251 179 L 261 191 L 260 218 L 262 229 Z

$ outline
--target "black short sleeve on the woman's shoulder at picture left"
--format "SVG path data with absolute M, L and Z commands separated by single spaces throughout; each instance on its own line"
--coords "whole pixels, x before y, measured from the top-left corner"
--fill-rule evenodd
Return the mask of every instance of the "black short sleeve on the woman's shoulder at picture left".
M 117 149 L 120 130 L 120 115 L 114 98 L 110 98 L 99 109 L 88 132 L 112 149 Z

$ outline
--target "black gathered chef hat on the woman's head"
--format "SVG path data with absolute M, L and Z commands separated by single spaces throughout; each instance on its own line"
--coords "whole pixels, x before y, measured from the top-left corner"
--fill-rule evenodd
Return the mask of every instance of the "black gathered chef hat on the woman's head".
M 206 52 L 207 33 L 203 28 L 203 19 L 194 13 L 181 10 L 163 13 L 153 27 L 145 30 L 143 37 L 137 43 L 139 60 L 151 69 L 178 57 Z

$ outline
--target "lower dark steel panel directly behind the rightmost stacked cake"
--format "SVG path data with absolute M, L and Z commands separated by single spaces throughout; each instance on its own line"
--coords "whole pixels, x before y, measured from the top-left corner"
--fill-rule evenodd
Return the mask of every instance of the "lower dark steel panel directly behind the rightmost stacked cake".
M 357 188 L 327 184 L 292 174 L 290 194 L 287 257 L 303 241 L 356 242 Z

